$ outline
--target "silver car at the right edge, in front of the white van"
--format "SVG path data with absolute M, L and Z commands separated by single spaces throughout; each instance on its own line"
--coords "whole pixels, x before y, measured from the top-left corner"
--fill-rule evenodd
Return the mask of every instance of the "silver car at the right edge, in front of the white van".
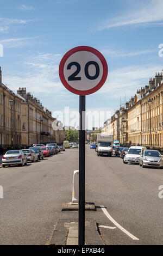
M 140 156 L 140 166 L 142 168 L 151 166 L 151 167 L 160 167 L 163 168 L 163 161 L 161 154 L 158 150 L 143 150 L 142 155 Z

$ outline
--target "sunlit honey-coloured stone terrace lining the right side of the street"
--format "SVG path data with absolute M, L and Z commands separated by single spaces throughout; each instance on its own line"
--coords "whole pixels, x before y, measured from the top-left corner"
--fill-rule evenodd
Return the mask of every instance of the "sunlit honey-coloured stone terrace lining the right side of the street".
M 112 115 L 111 134 L 114 140 L 120 140 L 123 145 L 145 145 L 163 151 L 162 94 L 163 76 L 156 73 L 149 79 L 148 86 L 137 90 L 126 106 Z

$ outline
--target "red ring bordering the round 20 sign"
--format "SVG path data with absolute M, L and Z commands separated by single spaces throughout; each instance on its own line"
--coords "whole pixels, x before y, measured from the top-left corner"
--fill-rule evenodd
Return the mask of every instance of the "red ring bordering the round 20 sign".
M 65 76 L 64 76 L 64 66 L 65 66 L 66 60 L 72 54 L 74 54 L 76 52 L 80 52 L 80 51 L 87 51 L 87 52 L 91 52 L 91 53 L 95 54 L 99 58 L 99 60 L 101 60 L 101 63 L 102 63 L 102 66 L 103 66 L 103 74 L 102 74 L 101 80 L 99 81 L 99 83 L 95 87 L 93 87 L 89 90 L 77 90 L 77 89 L 73 88 L 72 86 L 70 86 L 70 84 L 67 83 L 67 81 L 65 79 Z M 89 47 L 89 46 L 78 46 L 78 47 L 75 47 L 75 48 L 71 49 L 61 59 L 61 62 L 60 62 L 60 65 L 59 65 L 59 77 L 60 77 L 60 80 L 61 80 L 62 84 L 71 93 L 78 94 L 78 95 L 89 95 L 89 94 L 97 92 L 97 90 L 99 90 L 103 86 L 103 84 L 105 83 L 107 76 L 108 76 L 108 65 L 106 63 L 106 60 L 105 60 L 104 56 L 102 55 L 101 52 L 99 52 L 95 48 L 92 48 L 92 47 Z

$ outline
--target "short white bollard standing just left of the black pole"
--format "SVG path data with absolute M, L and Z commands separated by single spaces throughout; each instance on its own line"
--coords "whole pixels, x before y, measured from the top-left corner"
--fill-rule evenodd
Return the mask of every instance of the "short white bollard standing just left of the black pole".
M 73 172 L 72 204 L 79 204 L 79 170 Z

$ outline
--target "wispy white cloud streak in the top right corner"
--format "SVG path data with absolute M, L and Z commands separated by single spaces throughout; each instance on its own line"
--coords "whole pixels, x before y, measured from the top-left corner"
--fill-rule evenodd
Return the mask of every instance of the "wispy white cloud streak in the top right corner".
M 127 25 L 156 25 L 162 26 L 163 21 L 163 1 L 162 0 L 150 0 L 145 1 L 142 5 L 135 2 L 137 7 L 133 6 L 133 9 L 129 10 L 122 16 L 114 19 L 104 21 L 101 26 L 98 26 L 97 30 L 103 30 L 113 27 L 122 27 Z M 134 3 L 134 5 L 135 5 Z

